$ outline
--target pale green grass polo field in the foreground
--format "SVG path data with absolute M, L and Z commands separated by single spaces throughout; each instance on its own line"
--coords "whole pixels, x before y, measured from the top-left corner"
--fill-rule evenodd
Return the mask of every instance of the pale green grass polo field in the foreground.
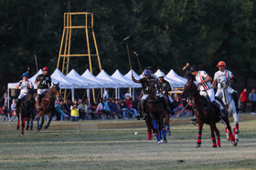
M 202 147 L 197 127 L 173 125 L 168 143 L 148 141 L 146 128 L 89 131 L 0 132 L 1 169 L 256 169 L 256 121 L 240 122 L 240 142 L 227 141 L 218 124 L 221 147 L 212 148 L 208 125 Z M 134 135 L 138 132 L 138 135 Z

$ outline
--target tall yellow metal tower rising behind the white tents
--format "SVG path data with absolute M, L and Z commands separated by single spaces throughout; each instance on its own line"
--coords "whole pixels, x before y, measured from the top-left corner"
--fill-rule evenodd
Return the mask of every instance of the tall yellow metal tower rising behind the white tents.
M 85 21 L 84 25 L 72 25 L 72 15 L 84 16 L 84 21 Z M 72 29 L 85 29 L 85 35 L 86 35 L 86 46 L 85 47 L 87 47 L 87 54 L 70 54 Z M 90 41 L 89 41 L 89 29 L 92 32 L 92 38 L 94 41 L 94 47 L 95 47 L 96 54 L 91 54 Z M 64 39 L 65 39 L 65 41 L 64 41 Z M 58 64 L 57 64 L 57 68 L 59 68 L 60 60 L 62 58 L 61 72 L 64 75 L 67 75 L 69 73 L 69 57 L 70 56 L 88 56 L 91 74 L 92 74 L 91 56 L 97 56 L 98 64 L 99 64 L 100 71 L 101 71 L 101 60 L 100 60 L 98 46 L 97 46 L 96 38 L 95 38 L 95 34 L 94 34 L 93 14 L 92 13 L 86 13 L 86 12 L 64 13 L 64 27 L 63 27 L 63 33 L 62 33 L 61 43 L 60 43 L 60 47 L 59 47 L 59 58 L 58 58 Z M 66 92 L 67 92 L 66 90 L 64 90 L 64 92 L 63 92 L 63 90 L 61 90 L 61 93 L 64 95 L 64 99 L 66 99 Z M 95 102 L 94 89 L 92 89 L 92 95 L 93 95 L 93 100 Z

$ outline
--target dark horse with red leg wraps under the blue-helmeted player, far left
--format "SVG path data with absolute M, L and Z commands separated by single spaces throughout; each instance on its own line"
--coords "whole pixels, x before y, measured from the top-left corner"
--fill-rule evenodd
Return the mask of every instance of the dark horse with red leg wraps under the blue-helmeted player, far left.
M 21 132 L 20 135 L 24 135 L 24 128 L 25 128 L 25 121 L 27 119 L 27 127 L 26 130 L 29 128 L 29 121 L 31 119 L 30 130 L 32 130 L 33 126 L 33 112 L 34 112 L 34 105 L 36 103 L 35 97 L 33 96 L 33 89 L 27 89 L 27 95 L 23 98 L 21 104 L 17 109 L 17 125 L 16 129 L 19 129 L 19 117 L 21 117 Z

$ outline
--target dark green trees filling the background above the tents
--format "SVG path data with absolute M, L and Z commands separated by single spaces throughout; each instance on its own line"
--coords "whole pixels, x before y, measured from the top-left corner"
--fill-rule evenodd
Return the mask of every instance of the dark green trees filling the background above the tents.
M 235 75 L 256 77 L 254 57 L 256 5 L 251 0 L 41 0 L 0 1 L 0 90 L 16 82 L 30 67 L 36 73 L 48 65 L 54 70 L 59 55 L 64 12 L 94 14 L 95 35 L 101 65 L 109 74 L 129 70 L 123 38 L 130 36 L 133 69 L 152 65 L 182 73 L 186 62 L 199 65 L 213 75 L 219 60 L 225 60 Z M 92 43 L 92 42 L 91 42 Z M 86 51 L 83 31 L 72 32 L 71 51 Z M 89 68 L 87 58 L 71 58 L 70 69 L 82 73 Z M 99 73 L 92 58 L 93 73 Z

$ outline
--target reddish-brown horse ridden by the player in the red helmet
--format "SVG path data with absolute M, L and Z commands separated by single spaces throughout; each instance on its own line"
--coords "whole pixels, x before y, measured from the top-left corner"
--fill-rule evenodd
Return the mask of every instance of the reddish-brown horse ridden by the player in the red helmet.
M 59 83 L 53 84 L 47 95 L 42 98 L 40 103 L 42 109 L 39 111 L 37 116 L 37 131 L 39 132 L 44 125 L 44 115 L 48 113 L 48 125 L 45 126 L 45 129 L 48 128 L 52 115 L 55 112 L 55 100 L 56 96 L 59 96 Z M 36 103 L 37 107 L 37 103 Z M 41 124 L 39 125 L 40 117 L 42 117 Z

